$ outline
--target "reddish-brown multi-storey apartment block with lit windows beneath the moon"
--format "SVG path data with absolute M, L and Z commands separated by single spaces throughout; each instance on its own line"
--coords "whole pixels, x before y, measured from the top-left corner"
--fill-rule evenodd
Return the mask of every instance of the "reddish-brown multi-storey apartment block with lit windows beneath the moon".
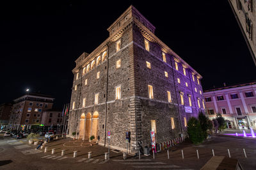
M 43 111 L 52 109 L 54 98 L 40 93 L 28 93 L 13 100 L 9 128 L 26 130 L 38 128 Z

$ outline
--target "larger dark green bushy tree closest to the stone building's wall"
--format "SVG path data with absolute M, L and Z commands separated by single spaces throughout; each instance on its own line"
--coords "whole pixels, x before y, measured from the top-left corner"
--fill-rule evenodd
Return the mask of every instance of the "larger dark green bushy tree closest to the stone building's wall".
M 202 141 L 204 141 L 204 135 L 202 134 L 201 125 L 199 123 L 199 120 L 195 117 L 189 118 L 187 130 L 189 139 L 191 140 L 192 143 L 197 144 L 202 143 Z

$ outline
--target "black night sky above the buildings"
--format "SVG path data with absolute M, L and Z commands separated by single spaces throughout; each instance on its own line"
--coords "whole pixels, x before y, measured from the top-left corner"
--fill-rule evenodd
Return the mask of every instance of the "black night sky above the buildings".
M 52 95 L 56 107 L 68 103 L 74 61 L 106 40 L 107 28 L 131 4 L 203 76 L 204 89 L 256 80 L 228 1 L 8 1 L 0 5 L 0 104 L 26 88 Z

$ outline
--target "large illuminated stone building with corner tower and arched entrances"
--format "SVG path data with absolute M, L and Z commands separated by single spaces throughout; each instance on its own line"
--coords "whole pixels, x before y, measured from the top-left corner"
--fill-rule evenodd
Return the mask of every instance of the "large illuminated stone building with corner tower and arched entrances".
M 130 6 L 109 28 L 109 37 L 76 60 L 68 135 L 91 135 L 102 146 L 129 151 L 150 144 L 150 131 L 164 142 L 186 134 L 191 116 L 204 110 L 198 74 L 156 35 Z

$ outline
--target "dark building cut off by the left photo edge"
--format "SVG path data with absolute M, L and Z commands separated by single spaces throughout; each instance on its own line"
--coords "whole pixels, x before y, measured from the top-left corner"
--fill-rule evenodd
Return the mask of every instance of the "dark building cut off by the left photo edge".
M 5 129 L 8 126 L 11 110 L 12 104 L 0 105 L 0 129 Z

